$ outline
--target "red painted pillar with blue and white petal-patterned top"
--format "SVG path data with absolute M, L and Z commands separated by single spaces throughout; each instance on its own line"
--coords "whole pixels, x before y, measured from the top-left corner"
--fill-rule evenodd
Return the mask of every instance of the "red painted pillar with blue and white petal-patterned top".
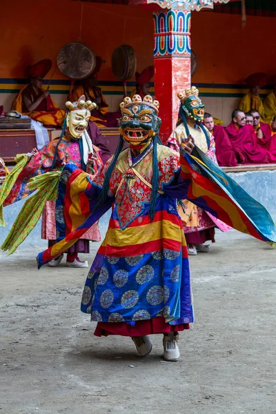
M 155 28 L 155 99 L 160 102 L 160 138 L 164 143 L 175 129 L 177 92 L 190 86 L 190 11 L 161 10 L 153 13 Z

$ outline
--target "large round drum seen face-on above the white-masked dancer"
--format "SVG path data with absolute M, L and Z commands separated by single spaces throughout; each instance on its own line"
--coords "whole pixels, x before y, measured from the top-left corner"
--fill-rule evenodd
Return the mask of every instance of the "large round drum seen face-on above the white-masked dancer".
M 96 58 L 88 46 L 79 41 L 67 43 L 59 50 L 57 67 L 70 79 L 84 79 L 95 69 Z

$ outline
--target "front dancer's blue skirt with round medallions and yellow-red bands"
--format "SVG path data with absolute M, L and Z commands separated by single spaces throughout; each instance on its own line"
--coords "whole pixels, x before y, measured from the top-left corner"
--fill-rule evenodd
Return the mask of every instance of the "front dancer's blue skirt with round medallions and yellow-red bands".
M 118 224 L 114 213 L 110 226 Z M 127 230 L 116 229 L 117 235 L 114 228 L 108 229 L 81 302 L 81 311 L 90 313 L 93 321 L 135 322 L 163 316 L 173 324 L 193 322 L 187 248 L 175 201 L 159 197 L 155 221 L 148 218 L 145 211 Z M 112 239 L 124 237 L 126 231 L 128 241 L 115 246 Z

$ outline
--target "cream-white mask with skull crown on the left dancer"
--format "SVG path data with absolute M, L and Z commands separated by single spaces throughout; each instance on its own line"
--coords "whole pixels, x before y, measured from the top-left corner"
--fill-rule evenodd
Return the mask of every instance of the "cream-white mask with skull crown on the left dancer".
M 90 111 L 96 108 L 96 103 L 86 101 L 86 97 L 82 95 L 77 102 L 66 102 L 69 110 L 66 117 L 66 126 L 70 135 L 75 139 L 80 139 L 83 131 L 88 126 L 90 119 Z

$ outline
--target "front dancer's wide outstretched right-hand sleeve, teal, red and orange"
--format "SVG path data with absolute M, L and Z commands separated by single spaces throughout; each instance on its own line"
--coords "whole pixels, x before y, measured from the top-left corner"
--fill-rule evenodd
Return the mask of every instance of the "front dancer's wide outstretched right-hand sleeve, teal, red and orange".
M 195 147 L 181 155 L 181 176 L 188 179 L 188 199 L 224 223 L 263 242 L 276 240 L 273 219 L 262 204 Z

